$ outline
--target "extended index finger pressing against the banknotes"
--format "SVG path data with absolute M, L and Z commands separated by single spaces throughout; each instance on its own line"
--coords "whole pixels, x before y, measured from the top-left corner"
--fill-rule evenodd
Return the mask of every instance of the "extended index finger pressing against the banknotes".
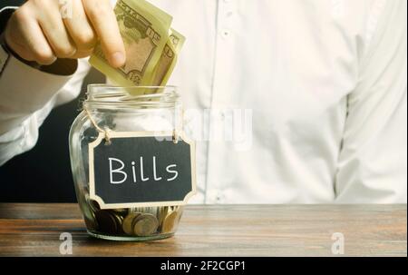
M 85 13 L 101 40 L 102 51 L 113 67 L 126 62 L 125 48 L 116 16 L 107 0 L 83 0 Z

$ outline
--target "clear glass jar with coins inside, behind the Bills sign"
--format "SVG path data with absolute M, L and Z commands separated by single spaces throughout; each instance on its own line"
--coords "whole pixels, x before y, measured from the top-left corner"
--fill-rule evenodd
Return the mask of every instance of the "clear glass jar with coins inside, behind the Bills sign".
M 76 197 L 89 234 L 114 241 L 147 241 L 172 236 L 179 225 L 182 206 L 102 210 L 97 201 L 90 199 L 88 144 L 97 139 L 101 129 L 114 132 L 182 130 L 182 108 L 176 87 L 89 85 L 83 112 L 73 122 L 69 137 Z

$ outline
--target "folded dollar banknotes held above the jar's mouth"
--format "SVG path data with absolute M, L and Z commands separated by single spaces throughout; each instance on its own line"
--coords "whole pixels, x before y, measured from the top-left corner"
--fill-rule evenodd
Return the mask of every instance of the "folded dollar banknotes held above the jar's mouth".
M 120 0 L 114 12 L 126 50 L 126 64 L 113 68 L 97 44 L 90 64 L 121 86 L 163 86 L 185 41 L 170 28 L 172 17 L 145 0 Z

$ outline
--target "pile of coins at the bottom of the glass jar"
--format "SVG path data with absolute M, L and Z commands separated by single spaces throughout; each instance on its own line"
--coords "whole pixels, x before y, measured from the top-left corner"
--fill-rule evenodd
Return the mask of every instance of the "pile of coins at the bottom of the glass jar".
M 102 210 L 88 195 L 85 195 L 82 208 L 88 230 L 139 237 L 176 231 L 182 211 L 180 206 Z

